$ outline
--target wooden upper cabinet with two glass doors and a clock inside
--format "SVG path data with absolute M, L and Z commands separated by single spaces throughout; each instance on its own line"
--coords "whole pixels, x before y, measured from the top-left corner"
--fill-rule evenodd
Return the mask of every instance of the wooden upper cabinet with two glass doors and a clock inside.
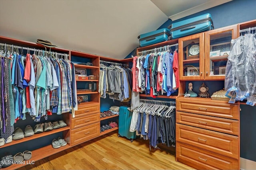
M 179 39 L 180 80 L 224 80 L 237 25 Z

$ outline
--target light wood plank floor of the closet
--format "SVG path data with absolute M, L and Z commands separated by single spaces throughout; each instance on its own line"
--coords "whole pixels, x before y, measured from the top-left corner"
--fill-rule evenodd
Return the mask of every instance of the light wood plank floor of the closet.
M 192 170 L 164 149 L 149 150 L 148 141 L 132 143 L 113 132 L 64 150 L 19 170 Z

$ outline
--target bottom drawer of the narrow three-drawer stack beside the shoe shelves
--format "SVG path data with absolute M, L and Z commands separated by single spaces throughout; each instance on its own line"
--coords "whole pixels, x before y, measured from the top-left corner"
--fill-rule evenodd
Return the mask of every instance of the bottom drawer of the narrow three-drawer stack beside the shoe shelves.
M 71 145 L 88 141 L 100 135 L 100 122 L 71 130 Z

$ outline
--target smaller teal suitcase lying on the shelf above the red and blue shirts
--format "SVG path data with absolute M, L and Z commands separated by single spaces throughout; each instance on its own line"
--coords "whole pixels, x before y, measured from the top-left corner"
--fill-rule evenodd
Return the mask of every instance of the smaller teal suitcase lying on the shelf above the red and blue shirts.
M 138 36 L 140 39 L 140 46 L 148 46 L 156 43 L 160 43 L 163 41 L 167 41 L 168 37 L 170 36 L 170 29 L 162 28 L 156 31 L 151 31 L 149 33 L 144 33 Z

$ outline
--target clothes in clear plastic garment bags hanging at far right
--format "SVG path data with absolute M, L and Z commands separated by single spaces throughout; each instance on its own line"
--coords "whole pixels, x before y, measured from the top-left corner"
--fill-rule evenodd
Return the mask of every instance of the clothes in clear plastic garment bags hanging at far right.
M 256 38 L 255 34 L 241 35 L 231 41 L 225 73 L 228 103 L 247 100 L 246 104 L 256 104 Z

